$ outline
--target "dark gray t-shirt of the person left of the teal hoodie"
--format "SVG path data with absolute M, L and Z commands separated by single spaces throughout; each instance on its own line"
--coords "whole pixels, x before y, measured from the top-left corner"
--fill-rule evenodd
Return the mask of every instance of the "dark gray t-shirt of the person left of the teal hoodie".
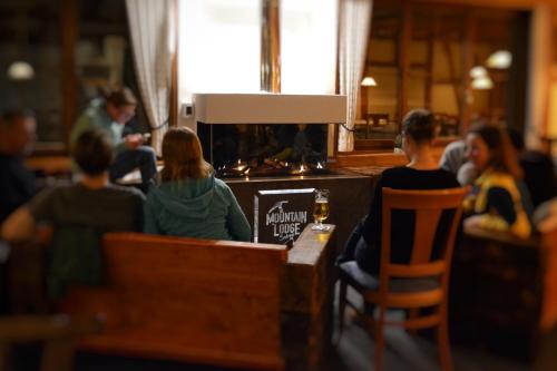
M 144 199 L 143 193 L 135 188 L 110 185 L 91 189 L 76 184 L 45 189 L 28 206 L 37 222 L 47 222 L 55 227 L 140 232 Z

